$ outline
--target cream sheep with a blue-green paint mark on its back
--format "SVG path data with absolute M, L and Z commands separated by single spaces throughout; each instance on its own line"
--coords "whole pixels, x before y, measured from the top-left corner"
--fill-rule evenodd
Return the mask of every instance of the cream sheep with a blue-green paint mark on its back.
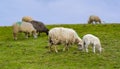
M 34 38 L 37 38 L 37 33 L 35 28 L 31 23 L 28 23 L 28 22 L 15 22 L 13 24 L 14 40 L 17 40 L 18 32 L 24 32 L 26 35 L 26 38 L 28 38 L 28 36 L 31 34 L 33 34 Z

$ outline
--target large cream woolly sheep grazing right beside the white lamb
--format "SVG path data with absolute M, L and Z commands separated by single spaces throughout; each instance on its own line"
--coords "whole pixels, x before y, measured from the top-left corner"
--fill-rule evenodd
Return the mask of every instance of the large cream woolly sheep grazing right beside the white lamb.
M 77 33 L 73 29 L 70 28 L 52 28 L 49 31 L 48 39 L 50 51 L 52 51 L 52 46 L 54 45 L 56 53 L 58 53 L 57 45 L 59 44 L 65 45 L 63 51 L 65 51 L 66 49 L 69 50 L 69 46 L 72 44 L 78 44 L 79 49 L 82 49 L 83 47 L 82 39 L 77 35 Z

